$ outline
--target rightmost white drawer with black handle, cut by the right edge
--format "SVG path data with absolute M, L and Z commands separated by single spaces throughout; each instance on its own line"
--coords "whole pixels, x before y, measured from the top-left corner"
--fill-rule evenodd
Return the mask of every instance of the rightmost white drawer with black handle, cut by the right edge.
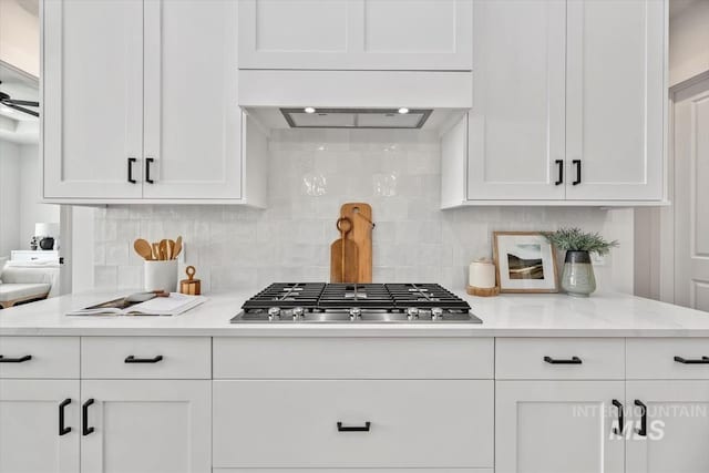
M 709 379 L 708 338 L 637 338 L 626 343 L 628 379 Z

